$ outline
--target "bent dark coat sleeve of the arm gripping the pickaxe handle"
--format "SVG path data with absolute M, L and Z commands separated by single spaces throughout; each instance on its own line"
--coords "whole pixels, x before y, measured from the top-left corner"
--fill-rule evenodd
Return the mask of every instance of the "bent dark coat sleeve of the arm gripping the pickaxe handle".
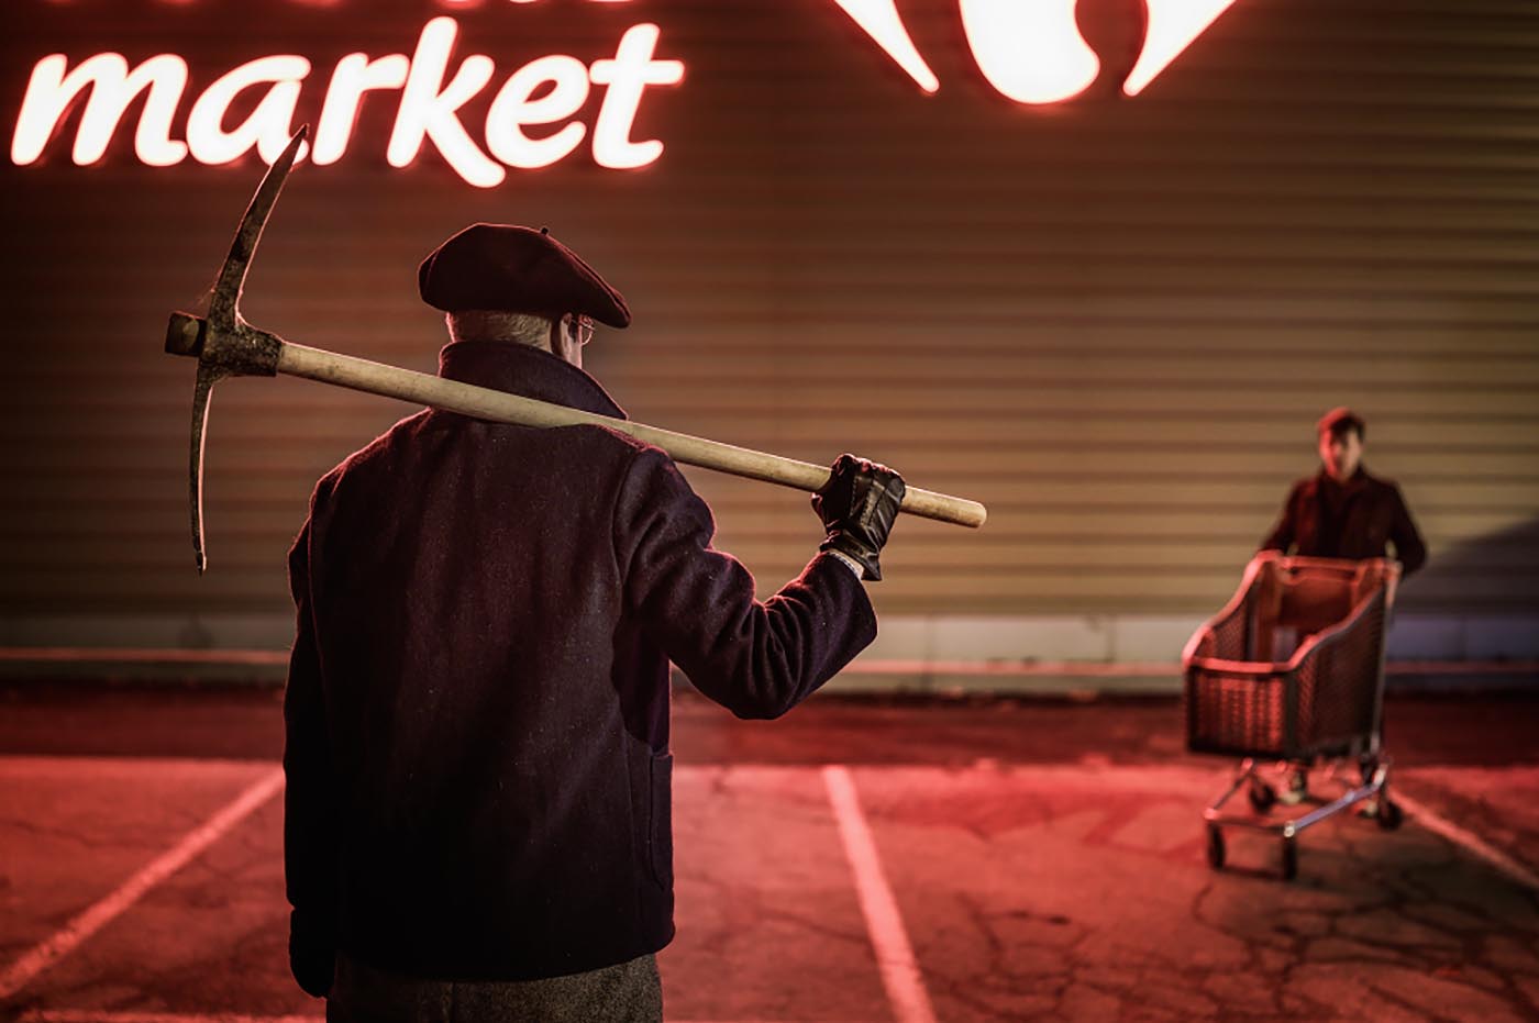
M 765 601 L 668 455 L 645 448 L 616 500 L 628 612 L 700 692 L 739 717 L 785 714 L 876 638 L 865 586 L 830 554 Z

